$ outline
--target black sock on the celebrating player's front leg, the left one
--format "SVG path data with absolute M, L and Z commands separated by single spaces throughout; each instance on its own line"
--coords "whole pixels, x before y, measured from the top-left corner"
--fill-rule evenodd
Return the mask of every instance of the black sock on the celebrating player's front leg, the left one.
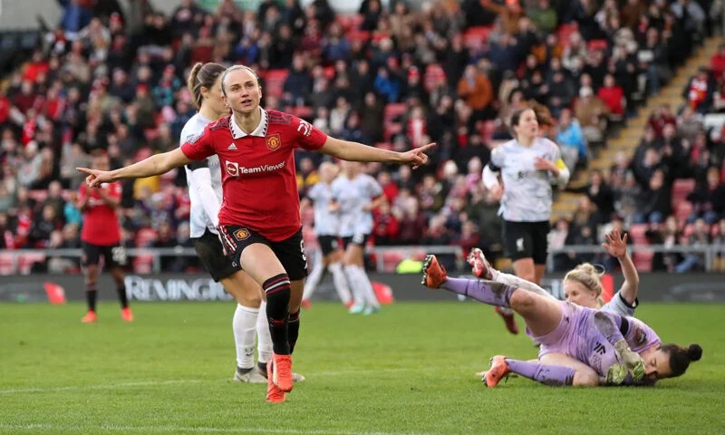
M 269 321 L 269 333 L 272 335 L 272 351 L 277 355 L 288 355 L 287 317 L 291 293 L 289 276 L 272 276 L 265 281 L 262 288 L 266 294 L 266 317 Z

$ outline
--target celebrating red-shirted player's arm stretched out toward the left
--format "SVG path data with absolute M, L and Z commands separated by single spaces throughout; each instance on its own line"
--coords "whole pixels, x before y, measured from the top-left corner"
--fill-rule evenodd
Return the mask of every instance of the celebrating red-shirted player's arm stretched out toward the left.
M 161 175 L 179 166 L 191 163 L 186 154 L 180 148 L 161 154 L 156 154 L 148 159 L 141 160 L 131 166 L 115 170 L 97 170 L 88 168 L 76 168 L 81 172 L 88 174 L 85 182 L 89 187 L 95 188 L 101 186 L 102 183 L 111 183 L 119 179 L 143 179 Z

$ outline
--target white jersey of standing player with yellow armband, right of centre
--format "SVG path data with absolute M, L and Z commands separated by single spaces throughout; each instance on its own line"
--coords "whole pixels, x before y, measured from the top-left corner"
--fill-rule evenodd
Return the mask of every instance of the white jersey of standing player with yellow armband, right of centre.
M 509 140 L 491 151 L 491 170 L 501 171 L 504 195 L 498 215 L 511 222 L 541 222 L 551 217 L 551 180 L 545 170 L 534 168 L 536 157 L 556 163 L 561 152 L 556 143 L 536 138 L 531 147 Z

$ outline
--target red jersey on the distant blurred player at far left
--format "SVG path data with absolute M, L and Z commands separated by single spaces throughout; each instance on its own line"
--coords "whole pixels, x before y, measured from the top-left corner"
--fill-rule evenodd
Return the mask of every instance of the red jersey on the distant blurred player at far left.
M 121 227 L 116 210 L 103 201 L 99 190 L 103 190 L 111 198 L 121 199 L 120 183 L 103 183 L 99 189 L 88 189 L 85 184 L 81 185 L 80 198 L 82 201 L 88 198 L 88 209 L 83 213 L 83 229 L 81 240 L 110 247 L 121 242 Z

